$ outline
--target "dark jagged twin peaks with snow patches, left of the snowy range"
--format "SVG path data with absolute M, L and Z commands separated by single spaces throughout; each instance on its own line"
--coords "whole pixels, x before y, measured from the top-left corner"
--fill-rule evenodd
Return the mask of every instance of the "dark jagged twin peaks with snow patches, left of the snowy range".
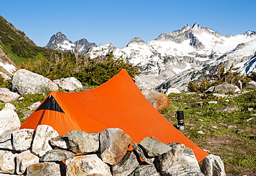
M 68 40 L 65 35 L 62 34 L 62 32 L 57 32 L 56 35 L 53 35 L 49 42 L 46 45 L 46 48 L 53 48 L 57 50 L 64 50 L 64 51 L 71 51 L 71 52 L 77 52 L 80 55 L 85 55 L 91 46 L 96 47 L 97 45 L 95 43 L 89 43 L 86 39 L 80 39 L 79 41 L 75 41 L 75 43 L 72 43 L 72 41 Z

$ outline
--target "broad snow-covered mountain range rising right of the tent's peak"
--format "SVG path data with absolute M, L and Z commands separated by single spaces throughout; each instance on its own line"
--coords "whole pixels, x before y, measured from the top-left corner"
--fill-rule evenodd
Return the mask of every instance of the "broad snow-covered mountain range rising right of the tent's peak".
M 140 86 L 186 90 L 190 80 L 200 79 L 219 64 L 227 69 L 239 67 L 241 72 L 256 72 L 256 32 L 242 35 L 220 35 L 210 28 L 198 24 L 184 26 L 168 34 L 145 43 L 136 37 L 124 48 L 116 48 L 111 43 L 92 47 L 86 54 L 91 58 L 113 51 L 113 55 L 127 61 L 140 63 L 144 73 L 138 77 Z

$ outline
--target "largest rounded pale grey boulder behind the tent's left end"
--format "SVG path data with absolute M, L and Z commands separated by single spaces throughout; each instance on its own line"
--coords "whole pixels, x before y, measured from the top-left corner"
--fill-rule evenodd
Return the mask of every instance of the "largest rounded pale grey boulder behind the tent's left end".
M 12 91 L 20 95 L 35 94 L 46 90 L 57 91 L 59 87 L 51 79 L 28 70 L 18 70 L 12 77 Z

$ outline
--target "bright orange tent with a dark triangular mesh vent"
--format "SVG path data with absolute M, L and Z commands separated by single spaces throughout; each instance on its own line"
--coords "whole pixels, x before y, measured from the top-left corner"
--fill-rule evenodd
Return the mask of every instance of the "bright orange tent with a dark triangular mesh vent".
M 52 126 L 60 135 L 71 130 L 94 133 L 120 128 L 136 143 L 154 136 L 165 144 L 185 144 L 198 161 L 208 155 L 158 113 L 125 69 L 91 90 L 50 92 L 21 128 L 36 129 L 40 124 Z

